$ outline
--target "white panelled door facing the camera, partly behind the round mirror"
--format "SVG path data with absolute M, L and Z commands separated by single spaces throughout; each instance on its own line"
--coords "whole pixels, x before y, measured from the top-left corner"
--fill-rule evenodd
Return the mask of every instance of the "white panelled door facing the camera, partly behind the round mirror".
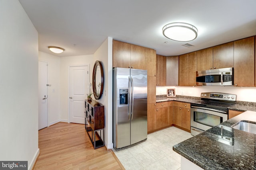
M 84 124 L 84 100 L 88 94 L 88 66 L 70 66 L 70 122 Z

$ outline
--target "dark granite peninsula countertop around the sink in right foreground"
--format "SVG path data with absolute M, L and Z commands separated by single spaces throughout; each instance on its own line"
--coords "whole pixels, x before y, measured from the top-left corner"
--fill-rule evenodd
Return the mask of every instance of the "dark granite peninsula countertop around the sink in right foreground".
M 256 122 L 256 112 L 241 113 L 174 145 L 173 150 L 205 170 L 256 169 L 256 135 L 231 127 L 241 120 Z

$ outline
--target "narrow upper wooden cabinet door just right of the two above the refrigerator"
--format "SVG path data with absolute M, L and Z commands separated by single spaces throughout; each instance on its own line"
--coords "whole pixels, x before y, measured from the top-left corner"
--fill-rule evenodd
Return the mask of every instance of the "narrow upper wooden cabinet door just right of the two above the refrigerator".
M 146 70 L 148 70 L 148 76 L 156 76 L 156 50 L 154 49 L 146 48 Z

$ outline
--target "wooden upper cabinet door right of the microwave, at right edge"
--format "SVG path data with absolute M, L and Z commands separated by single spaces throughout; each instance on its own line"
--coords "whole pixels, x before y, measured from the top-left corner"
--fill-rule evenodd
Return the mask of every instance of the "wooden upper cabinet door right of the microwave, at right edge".
M 234 41 L 234 85 L 254 87 L 254 37 Z

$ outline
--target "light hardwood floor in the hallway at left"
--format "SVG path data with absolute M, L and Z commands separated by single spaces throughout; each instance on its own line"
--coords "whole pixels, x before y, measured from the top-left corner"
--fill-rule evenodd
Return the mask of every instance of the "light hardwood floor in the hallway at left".
M 111 149 L 93 148 L 82 124 L 60 122 L 41 129 L 38 142 L 35 170 L 124 170 Z

